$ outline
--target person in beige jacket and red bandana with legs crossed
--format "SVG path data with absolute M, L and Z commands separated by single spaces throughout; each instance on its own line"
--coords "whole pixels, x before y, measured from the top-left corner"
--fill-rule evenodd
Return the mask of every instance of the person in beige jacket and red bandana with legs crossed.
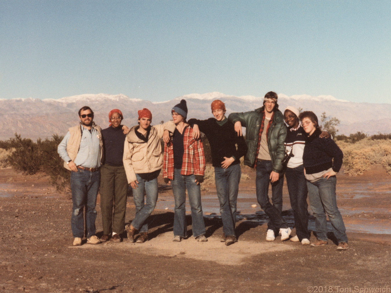
M 158 175 L 163 167 L 160 139 L 163 134 L 168 137 L 169 132 L 175 130 L 173 121 L 153 126 L 151 121 L 151 111 L 146 108 L 139 110 L 139 125 L 131 128 L 124 145 L 124 167 L 127 182 L 133 188 L 133 200 L 136 206 L 135 218 L 125 226 L 125 229 L 127 238 L 131 242 L 135 242 L 135 234 L 137 231 L 140 232 L 137 243 L 148 240 L 147 218 L 154 210 L 158 199 Z

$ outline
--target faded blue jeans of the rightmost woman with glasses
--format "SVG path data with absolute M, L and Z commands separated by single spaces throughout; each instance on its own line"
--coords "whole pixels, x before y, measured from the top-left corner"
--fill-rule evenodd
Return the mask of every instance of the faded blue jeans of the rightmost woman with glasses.
M 339 242 L 348 242 L 345 225 L 341 213 L 337 207 L 337 197 L 335 195 L 335 176 L 329 179 L 321 178 L 315 182 L 307 181 L 308 198 L 315 217 L 316 238 L 327 241 L 326 214 L 334 230 L 334 236 Z

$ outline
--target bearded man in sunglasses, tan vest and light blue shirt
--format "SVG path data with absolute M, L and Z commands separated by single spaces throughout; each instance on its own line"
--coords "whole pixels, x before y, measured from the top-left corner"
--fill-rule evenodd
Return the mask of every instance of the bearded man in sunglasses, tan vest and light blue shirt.
M 79 110 L 79 125 L 71 127 L 58 145 L 57 152 L 64 167 L 71 171 L 71 227 L 73 245 L 81 245 L 84 236 L 84 207 L 86 209 L 87 243 L 100 243 L 95 235 L 95 205 L 100 184 L 100 164 L 103 155 L 102 129 L 93 122 L 90 107 Z

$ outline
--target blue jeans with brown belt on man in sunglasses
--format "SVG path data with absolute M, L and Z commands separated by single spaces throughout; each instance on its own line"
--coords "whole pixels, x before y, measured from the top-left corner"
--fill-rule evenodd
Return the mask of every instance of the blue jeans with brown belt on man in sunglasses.
M 95 219 L 97 217 L 95 205 L 97 203 L 99 183 L 100 171 L 90 172 L 77 169 L 77 172 L 71 172 L 71 227 L 74 237 L 83 238 L 84 236 L 84 207 L 86 207 L 86 238 L 95 235 Z

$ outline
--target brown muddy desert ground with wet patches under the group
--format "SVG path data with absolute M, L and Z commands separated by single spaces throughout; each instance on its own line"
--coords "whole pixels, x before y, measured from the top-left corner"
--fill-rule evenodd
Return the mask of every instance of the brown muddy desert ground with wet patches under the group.
M 44 175 L 0 170 L 0 292 L 391 290 L 391 177 L 384 171 L 338 175 L 337 202 L 350 245 L 343 252 L 335 250 L 332 239 L 317 248 L 279 237 L 265 241 L 265 217 L 259 205 L 251 207 L 257 204 L 253 170 L 244 167 L 243 173 L 250 180 L 240 184 L 239 242 L 229 247 L 219 241 L 222 224 L 213 186 L 202 195 L 208 242 L 189 237 L 173 243 L 172 191 L 163 185 L 159 208 L 149 218 L 149 241 L 130 243 L 124 234 L 121 243 L 88 245 L 84 240 L 72 247 L 69 195 L 57 193 Z M 292 222 L 286 189 L 283 203 L 284 216 Z M 129 197 L 126 222 L 134 213 Z M 191 235 L 190 216 L 187 220 Z M 96 224 L 99 236 L 99 205 Z

